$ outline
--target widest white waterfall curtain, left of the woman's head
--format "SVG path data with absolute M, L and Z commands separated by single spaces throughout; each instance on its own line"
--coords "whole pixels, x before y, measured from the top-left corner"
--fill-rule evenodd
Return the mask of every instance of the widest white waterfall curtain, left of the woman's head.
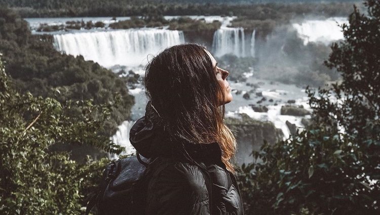
M 54 35 L 58 51 L 73 56 L 82 55 L 102 66 L 137 66 L 163 49 L 184 43 L 182 31 L 166 29 L 128 29 L 64 33 Z

